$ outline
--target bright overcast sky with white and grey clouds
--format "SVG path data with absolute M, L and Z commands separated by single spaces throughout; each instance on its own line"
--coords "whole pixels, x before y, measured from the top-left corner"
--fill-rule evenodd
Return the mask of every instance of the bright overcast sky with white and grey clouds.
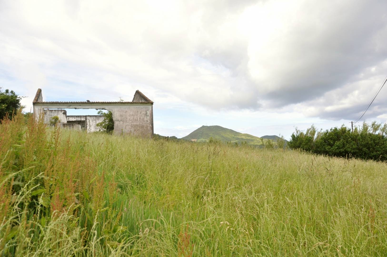
M 154 101 L 154 132 L 349 125 L 387 75 L 387 1 L 0 0 L 0 86 Z M 387 87 L 367 121 L 387 121 Z M 71 110 L 68 114 L 94 114 Z

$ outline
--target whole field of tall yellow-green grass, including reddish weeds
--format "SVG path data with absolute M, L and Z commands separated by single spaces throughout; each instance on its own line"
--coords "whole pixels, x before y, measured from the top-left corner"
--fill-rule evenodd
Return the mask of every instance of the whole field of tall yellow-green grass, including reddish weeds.
M 0 125 L 1 256 L 386 256 L 387 164 Z

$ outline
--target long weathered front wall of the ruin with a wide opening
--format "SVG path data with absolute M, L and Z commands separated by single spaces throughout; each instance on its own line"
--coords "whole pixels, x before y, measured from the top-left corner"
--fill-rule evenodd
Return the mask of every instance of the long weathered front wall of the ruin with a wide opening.
M 35 117 L 45 108 L 52 109 L 96 109 L 111 111 L 114 134 L 129 133 L 142 137 L 153 135 L 152 103 L 34 103 Z

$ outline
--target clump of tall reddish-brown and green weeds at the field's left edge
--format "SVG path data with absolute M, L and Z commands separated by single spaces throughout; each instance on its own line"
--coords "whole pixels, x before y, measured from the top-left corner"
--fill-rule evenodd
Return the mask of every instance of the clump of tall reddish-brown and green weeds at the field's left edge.
M 23 123 L 15 115 L 0 125 L 0 254 L 82 255 L 96 238 L 103 245 L 102 230 L 120 214 L 104 201 L 96 162 L 74 151 L 70 137 L 62 142 L 58 127 L 33 117 Z M 115 185 L 108 184 L 111 200 Z

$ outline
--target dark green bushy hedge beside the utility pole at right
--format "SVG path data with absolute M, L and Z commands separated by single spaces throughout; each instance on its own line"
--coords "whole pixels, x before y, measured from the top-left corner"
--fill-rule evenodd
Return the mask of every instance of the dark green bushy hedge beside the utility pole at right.
M 317 131 L 312 125 L 305 132 L 296 128 L 288 146 L 315 154 L 387 161 L 386 136 L 387 123 L 363 123 L 353 132 L 344 125 L 325 131 Z

